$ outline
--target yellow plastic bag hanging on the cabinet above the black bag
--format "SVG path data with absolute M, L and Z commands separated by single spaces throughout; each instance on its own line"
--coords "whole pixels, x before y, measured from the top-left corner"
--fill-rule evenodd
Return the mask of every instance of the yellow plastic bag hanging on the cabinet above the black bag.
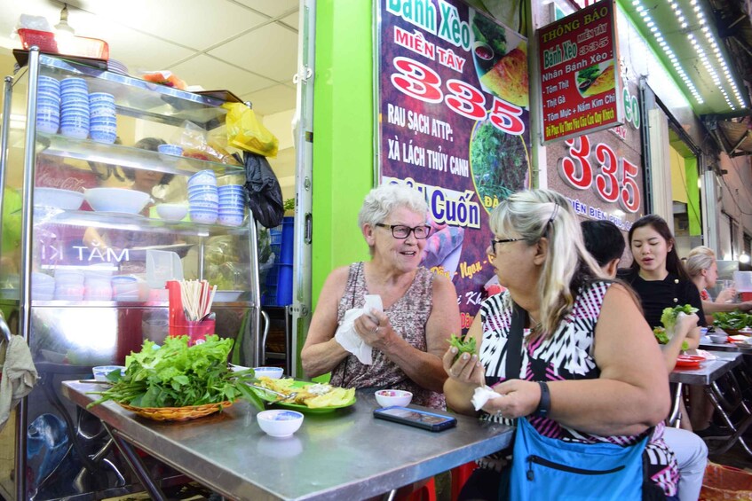
M 256 114 L 242 103 L 225 103 L 227 141 L 230 145 L 265 157 L 276 157 L 280 140 L 257 120 Z

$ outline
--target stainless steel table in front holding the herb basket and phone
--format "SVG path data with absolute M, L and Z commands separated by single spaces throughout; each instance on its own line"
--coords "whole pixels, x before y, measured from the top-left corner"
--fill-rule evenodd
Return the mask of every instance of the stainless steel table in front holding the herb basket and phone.
M 64 381 L 62 393 L 85 407 L 97 386 Z M 373 395 L 350 408 L 307 414 L 292 437 L 267 436 L 248 403 L 194 421 L 159 423 L 113 402 L 90 412 L 129 457 L 131 444 L 234 499 L 363 499 L 463 465 L 510 445 L 513 429 L 456 416 L 457 427 L 431 433 L 380 419 Z M 130 451 L 132 453 L 132 450 Z M 131 458 L 136 463 L 138 455 Z M 141 475 L 139 474 L 139 478 Z M 153 498 L 161 493 L 141 478 Z

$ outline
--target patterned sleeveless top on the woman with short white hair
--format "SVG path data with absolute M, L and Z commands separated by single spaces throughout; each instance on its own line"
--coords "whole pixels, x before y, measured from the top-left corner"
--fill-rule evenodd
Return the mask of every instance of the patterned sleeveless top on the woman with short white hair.
M 344 295 L 339 300 L 336 310 L 337 322 L 344 319 L 344 312 L 352 308 L 362 308 L 368 294 L 364 263 L 350 265 L 350 275 L 344 288 Z M 417 269 L 416 278 L 407 292 L 392 306 L 384 309 L 389 317 L 392 329 L 405 341 L 421 351 L 425 351 L 425 325 L 433 308 L 433 274 L 421 267 Z M 387 358 L 383 352 L 374 348 L 373 364 L 360 364 L 357 356 L 347 356 L 332 371 L 331 384 L 341 387 L 370 389 L 403 389 L 413 394 L 412 403 L 433 409 L 446 409 L 447 403 L 443 393 L 430 391 L 410 380 L 408 375 Z

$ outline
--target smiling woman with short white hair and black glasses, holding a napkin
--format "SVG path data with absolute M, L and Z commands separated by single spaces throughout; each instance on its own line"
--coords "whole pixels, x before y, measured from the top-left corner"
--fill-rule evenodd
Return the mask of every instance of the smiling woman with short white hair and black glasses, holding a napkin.
M 407 186 L 383 184 L 368 193 L 358 225 L 371 260 L 329 274 L 300 354 L 306 375 L 331 372 L 331 383 L 343 387 L 405 389 L 413 403 L 445 408 L 441 356 L 460 332 L 460 312 L 452 282 L 419 266 L 431 232 L 427 213 L 423 195 Z M 373 350 L 371 364 L 335 338 L 345 312 L 363 308 L 366 294 L 381 296 L 384 306 L 353 325 Z

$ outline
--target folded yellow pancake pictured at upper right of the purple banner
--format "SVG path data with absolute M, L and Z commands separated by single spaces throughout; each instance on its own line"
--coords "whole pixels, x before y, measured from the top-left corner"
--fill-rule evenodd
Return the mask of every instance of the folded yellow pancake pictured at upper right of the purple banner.
M 517 48 L 499 59 L 480 82 L 496 96 L 513 105 L 527 107 L 527 44 L 520 42 Z

